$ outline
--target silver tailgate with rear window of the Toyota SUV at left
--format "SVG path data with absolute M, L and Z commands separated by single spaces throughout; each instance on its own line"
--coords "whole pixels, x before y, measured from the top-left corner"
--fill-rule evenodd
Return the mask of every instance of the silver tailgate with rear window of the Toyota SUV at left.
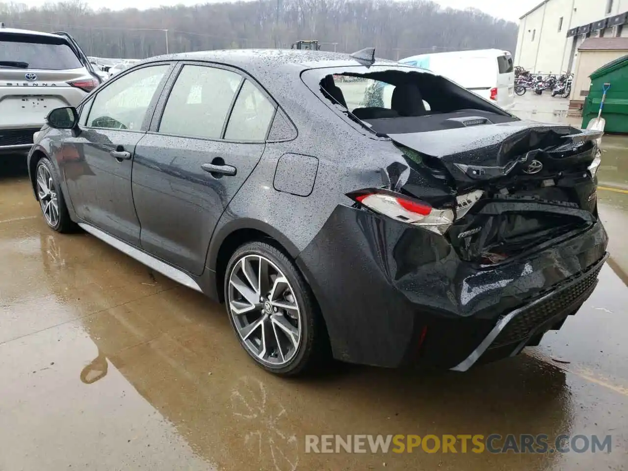
M 0 128 L 32 134 L 52 109 L 78 105 L 86 91 L 70 82 L 85 73 L 64 38 L 0 30 Z

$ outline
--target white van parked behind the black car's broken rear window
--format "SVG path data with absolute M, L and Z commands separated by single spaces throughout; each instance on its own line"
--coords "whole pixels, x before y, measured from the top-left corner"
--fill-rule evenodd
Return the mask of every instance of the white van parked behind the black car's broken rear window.
M 443 75 L 497 106 L 514 106 L 514 67 L 511 53 L 500 49 L 421 54 L 399 60 L 400 63 L 431 70 Z

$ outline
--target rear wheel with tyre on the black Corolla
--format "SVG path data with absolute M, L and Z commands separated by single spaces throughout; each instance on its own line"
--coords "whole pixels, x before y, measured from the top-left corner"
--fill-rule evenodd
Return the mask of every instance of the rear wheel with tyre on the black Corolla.
M 244 244 L 227 265 L 224 292 L 231 325 L 258 365 L 284 376 L 310 367 L 325 332 L 310 288 L 288 256 L 266 242 Z

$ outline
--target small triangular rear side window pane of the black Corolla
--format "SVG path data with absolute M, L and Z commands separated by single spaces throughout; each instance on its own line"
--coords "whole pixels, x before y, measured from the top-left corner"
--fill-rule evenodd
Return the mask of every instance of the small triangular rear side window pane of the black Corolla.
M 274 105 L 246 80 L 229 117 L 225 139 L 263 141 L 273 120 Z

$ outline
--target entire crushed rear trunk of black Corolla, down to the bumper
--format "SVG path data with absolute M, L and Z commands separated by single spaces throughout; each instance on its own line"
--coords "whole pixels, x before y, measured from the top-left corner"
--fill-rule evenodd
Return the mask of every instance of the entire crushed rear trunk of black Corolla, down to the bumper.
M 448 201 L 456 216 L 445 236 L 458 256 L 482 265 L 524 256 L 595 224 L 589 169 L 600 136 L 533 121 L 389 134 L 414 170 L 403 192 L 431 203 L 437 197 L 441 206 Z

